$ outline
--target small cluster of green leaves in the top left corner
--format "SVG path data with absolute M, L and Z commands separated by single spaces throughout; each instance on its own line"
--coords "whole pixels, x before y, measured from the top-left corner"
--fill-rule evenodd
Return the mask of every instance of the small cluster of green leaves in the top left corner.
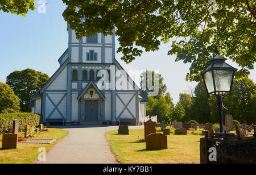
M 3 0 L 0 1 L 0 11 L 26 16 L 28 10 L 35 10 L 35 0 Z

